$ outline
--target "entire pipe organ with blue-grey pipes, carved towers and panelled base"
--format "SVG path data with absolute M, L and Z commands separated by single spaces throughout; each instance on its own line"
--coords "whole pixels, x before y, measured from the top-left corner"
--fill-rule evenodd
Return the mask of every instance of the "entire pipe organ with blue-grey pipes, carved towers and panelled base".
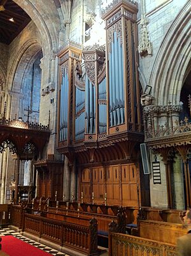
M 75 162 L 76 199 L 83 203 L 148 205 L 139 153 L 144 135 L 137 12 L 137 4 L 130 1 L 111 4 L 103 13 L 106 45 L 81 52 L 81 45 L 70 42 L 58 54 L 57 150 L 69 159 L 71 169 Z

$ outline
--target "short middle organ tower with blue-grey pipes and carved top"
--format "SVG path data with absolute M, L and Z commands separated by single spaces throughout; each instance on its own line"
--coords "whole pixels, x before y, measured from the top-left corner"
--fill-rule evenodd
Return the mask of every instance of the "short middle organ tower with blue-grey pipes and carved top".
M 87 46 L 83 50 L 85 66 L 85 133 L 106 132 L 105 47 Z M 93 136 L 87 137 L 95 140 Z

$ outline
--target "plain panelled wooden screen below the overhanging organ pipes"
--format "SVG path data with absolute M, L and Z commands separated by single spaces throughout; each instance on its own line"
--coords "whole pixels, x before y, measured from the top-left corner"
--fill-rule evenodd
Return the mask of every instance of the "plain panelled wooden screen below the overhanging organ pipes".
M 94 192 L 94 203 L 104 204 L 106 193 L 107 204 L 138 206 L 139 175 L 134 164 L 93 167 L 92 178 L 90 173 L 90 169 L 83 169 L 81 173 L 84 202 L 91 203 Z

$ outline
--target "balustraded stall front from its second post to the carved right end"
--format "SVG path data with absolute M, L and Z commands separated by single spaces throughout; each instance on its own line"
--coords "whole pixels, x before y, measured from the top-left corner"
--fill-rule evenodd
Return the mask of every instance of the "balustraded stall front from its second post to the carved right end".
M 97 253 L 97 221 L 93 218 L 87 226 L 62 222 L 50 218 L 24 214 L 23 231 L 35 234 L 39 238 L 69 246 L 88 255 Z

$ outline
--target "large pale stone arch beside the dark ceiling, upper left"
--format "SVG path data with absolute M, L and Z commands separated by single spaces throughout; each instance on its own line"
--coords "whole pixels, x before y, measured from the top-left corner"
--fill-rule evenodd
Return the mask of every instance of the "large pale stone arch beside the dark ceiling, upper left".
M 55 4 L 41 4 L 39 0 L 13 0 L 38 27 L 43 38 L 43 53 L 57 49 L 59 38 L 59 14 Z

